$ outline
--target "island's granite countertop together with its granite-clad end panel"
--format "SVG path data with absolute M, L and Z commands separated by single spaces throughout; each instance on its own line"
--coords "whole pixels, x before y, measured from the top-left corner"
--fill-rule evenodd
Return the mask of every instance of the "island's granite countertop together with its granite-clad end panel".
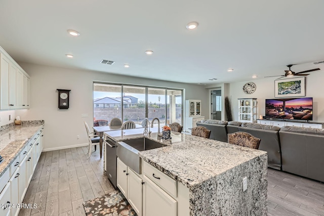
M 105 136 L 115 142 L 131 140 L 143 137 L 143 128 Z M 160 141 L 166 147 L 141 151 L 139 156 L 178 187 L 188 188 L 189 215 L 267 215 L 266 152 L 187 134 L 171 136 L 172 143 Z M 149 139 L 158 140 L 157 133 Z

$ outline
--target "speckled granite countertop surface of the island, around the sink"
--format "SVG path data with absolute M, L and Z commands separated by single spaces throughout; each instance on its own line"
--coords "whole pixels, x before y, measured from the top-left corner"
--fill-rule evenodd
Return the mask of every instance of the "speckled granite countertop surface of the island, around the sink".
M 177 132 L 171 133 L 171 142 L 158 140 L 157 128 L 150 129 L 152 133 L 148 138 L 167 146 L 141 151 L 140 157 L 188 188 L 266 154 L 265 151 Z M 144 137 L 143 128 L 110 131 L 104 134 L 116 142 Z

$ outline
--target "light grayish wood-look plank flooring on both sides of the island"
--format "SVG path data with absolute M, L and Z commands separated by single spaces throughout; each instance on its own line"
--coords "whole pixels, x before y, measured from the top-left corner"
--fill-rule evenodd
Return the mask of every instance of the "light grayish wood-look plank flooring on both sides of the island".
M 99 148 L 98 148 L 99 149 Z M 43 152 L 19 215 L 85 215 L 82 203 L 113 191 L 99 151 L 87 147 Z M 268 168 L 268 215 L 324 215 L 324 184 Z

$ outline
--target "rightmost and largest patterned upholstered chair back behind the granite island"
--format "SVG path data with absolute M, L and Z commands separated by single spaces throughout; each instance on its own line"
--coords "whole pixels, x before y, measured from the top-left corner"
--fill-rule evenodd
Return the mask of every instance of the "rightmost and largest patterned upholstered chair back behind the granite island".
M 253 135 L 247 132 L 235 132 L 228 134 L 228 143 L 244 146 L 252 149 L 259 149 L 261 139 L 254 137 Z

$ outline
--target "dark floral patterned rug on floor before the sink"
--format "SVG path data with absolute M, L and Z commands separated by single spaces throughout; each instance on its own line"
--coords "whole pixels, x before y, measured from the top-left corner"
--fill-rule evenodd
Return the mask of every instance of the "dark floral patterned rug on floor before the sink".
M 88 216 L 137 216 L 124 195 L 114 191 L 83 203 Z

